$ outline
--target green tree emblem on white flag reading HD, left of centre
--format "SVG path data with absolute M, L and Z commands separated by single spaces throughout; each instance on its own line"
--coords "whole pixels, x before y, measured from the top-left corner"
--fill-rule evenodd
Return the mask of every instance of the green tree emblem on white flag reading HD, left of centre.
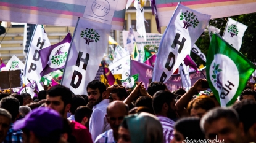
M 99 33 L 93 28 L 86 28 L 85 31 L 81 31 L 80 33 L 81 38 L 85 39 L 85 43 L 89 45 L 90 42 L 97 42 L 99 41 Z

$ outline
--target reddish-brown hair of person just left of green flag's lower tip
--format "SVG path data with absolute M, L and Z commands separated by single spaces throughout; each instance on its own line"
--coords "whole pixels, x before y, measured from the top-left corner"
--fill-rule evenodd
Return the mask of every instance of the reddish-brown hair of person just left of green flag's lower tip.
M 201 95 L 201 96 L 197 96 L 196 99 L 194 99 L 193 101 L 190 101 L 188 104 L 188 113 L 190 115 L 191 109 L 199 109 L 202 108 L 206 111 L 212 109 L 215 107 L 215 102 L 213 101 L 212 98 L 210 98 L 207 95 Z

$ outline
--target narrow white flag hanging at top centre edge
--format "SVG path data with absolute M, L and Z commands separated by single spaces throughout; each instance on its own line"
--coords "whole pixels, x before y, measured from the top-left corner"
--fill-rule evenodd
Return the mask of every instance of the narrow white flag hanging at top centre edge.
M 146 35 L 146 29 L 145 29 L 145 18 L 144 18 L 144 0 L 135 0 L 134 1 L 134 7 L 137 9 L 136 10 L 136 29 L 138 33 L 144 37 L 145 41 L 147 38 Z

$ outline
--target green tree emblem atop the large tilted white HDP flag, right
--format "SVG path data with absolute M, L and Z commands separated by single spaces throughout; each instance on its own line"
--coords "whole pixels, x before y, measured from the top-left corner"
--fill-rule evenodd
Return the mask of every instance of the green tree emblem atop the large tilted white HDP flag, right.
M 188 29 L 188 27 L 193 26 L 193 28 L 196 28 L 198 26 L 199 20 L 197 20 L 197 15 L 194 14 L 194 12 L 181 12 L 180 20 L 183 21 L 185 29 Z

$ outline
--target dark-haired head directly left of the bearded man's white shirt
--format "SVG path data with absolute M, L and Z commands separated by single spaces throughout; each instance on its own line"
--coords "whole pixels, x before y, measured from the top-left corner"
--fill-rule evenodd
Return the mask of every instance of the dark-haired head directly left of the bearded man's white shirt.
M 93 110 L 86 106 L 80 106 L 75 110 L 75 121 L 89 128 L 89 120 Z

